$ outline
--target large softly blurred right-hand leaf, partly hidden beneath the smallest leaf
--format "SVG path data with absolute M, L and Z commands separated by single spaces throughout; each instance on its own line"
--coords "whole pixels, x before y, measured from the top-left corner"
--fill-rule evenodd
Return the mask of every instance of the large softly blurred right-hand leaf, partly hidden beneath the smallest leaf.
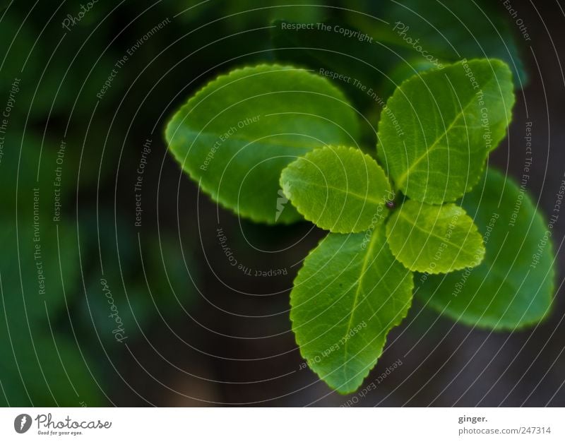
M 458 322 L 485 328 L 520 328 L 547 315 L 554 292 L 555 219 L 545 222 L 523 190 L 488 169 L 462 201 L 484 235 L 484 261 L 441 277 L 420 275 L 422 301 Z

